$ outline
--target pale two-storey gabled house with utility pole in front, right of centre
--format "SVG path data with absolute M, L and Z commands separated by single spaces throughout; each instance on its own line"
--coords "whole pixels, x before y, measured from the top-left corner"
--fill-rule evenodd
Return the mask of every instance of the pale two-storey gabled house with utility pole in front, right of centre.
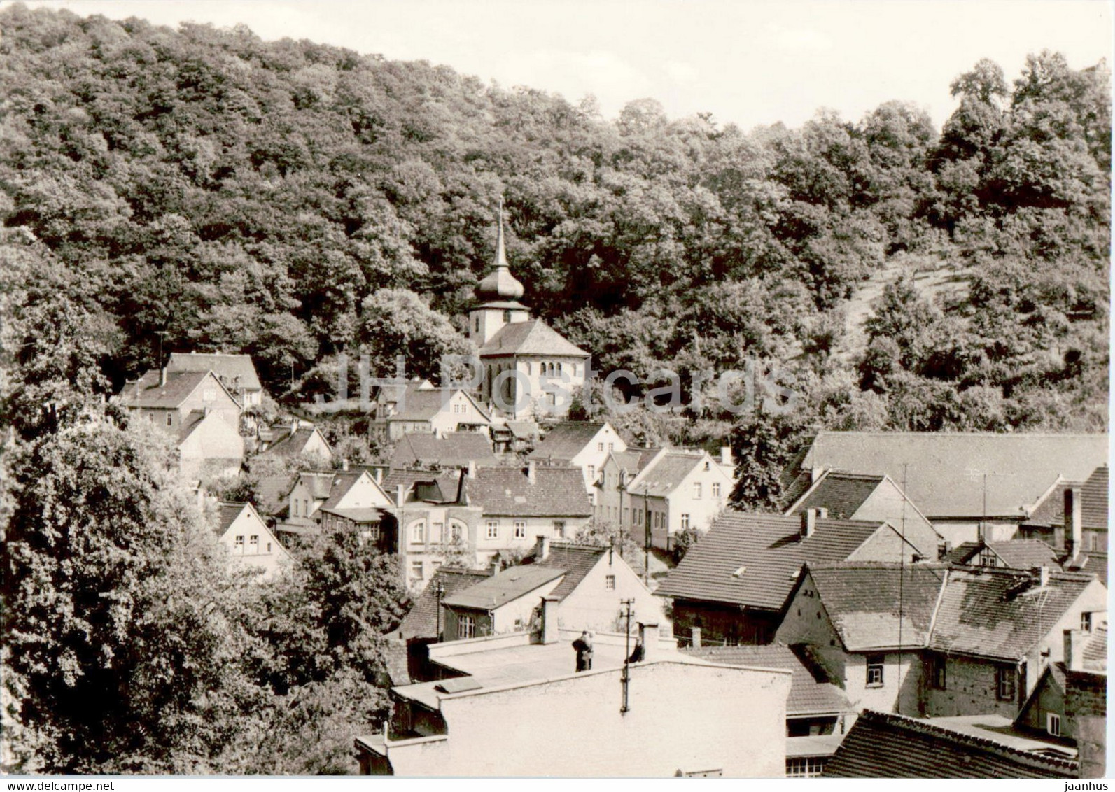
M 620 525 L 639 544 L 649 535 L 662 550 L 673 548 L 680 531 L 707 530 L 731 493 L 733 465 L 728 449 L 721 453 L 716 460 L 707 451 L 663 449 L 620 483 Z

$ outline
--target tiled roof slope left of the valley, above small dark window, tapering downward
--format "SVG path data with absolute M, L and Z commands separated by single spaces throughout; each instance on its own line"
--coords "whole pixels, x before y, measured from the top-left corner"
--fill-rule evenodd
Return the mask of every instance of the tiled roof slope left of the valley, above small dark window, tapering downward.
M 948 576 L 941 564 L 809 567 L 825 613 L 849 652 L 924 647 Z

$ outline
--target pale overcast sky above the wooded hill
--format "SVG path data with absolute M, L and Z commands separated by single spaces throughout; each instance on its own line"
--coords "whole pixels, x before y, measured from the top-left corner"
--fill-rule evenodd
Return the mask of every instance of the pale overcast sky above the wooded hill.
M 980 58 L 1018 76 L 1026 55 L 1060 50 L 1080 68 L 1111 62 L 1107 0 L 42 0 L 113 19 L 248 25 L 429 60 L 496 80 L 594 95 L 607 117 L 653 97 L 670 116 L 709 111 L 745 128 L 796 126 L 817 108 L 847 119 L 889 99 L 940 125 L 949 84 Z

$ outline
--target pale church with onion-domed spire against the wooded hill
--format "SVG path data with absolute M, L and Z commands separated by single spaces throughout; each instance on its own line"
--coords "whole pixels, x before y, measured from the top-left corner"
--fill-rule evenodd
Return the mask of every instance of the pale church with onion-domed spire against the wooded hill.
M 588 352 L 574 346 L 518 302 L 523 284 L 511 274 L 500 209 L 495 260 L 476 285 L 468 338 L 478 348 L 481 399 L 511 420 L 561 418 L 584 388 Z

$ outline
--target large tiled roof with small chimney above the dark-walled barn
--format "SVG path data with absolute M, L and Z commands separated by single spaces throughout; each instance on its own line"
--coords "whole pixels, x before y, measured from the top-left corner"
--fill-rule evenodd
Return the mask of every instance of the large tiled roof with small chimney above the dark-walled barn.
M 880 525 L 818 519 L 802 538 L 797 517 L 725 512 L 655 593 L 780 610 L 803 564 L 844 560 Z

